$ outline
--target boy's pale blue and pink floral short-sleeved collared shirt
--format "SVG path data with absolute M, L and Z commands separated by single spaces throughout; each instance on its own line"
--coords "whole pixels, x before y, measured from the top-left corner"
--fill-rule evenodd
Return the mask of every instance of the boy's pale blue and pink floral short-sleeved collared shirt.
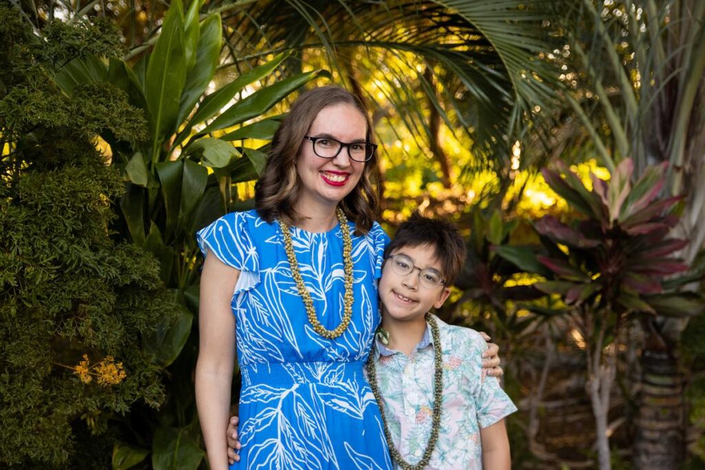
M 443 412 L 439 440 L 426 469 L 482 470 L 480 429 L 517 411 L 517 407 L 496 378 L 484 379 L 482 352 L 487 345 L 479 333 L 435 318 L 443 348 Z M 374 359 L 384 413 L 394 446 L 410 464 L 419 462 L 431 435 L 432 342 L 427 326 L 424 338 L 407 357 L 376 338 Z

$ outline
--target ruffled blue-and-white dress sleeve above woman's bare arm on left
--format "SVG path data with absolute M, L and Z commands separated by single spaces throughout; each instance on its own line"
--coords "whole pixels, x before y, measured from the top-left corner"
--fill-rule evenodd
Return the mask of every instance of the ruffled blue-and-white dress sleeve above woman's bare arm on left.
M 240 271 L 235 292 L 254 287 L 259 281 L 259 259 L 252 242 L 247 212 L 231 212 L 196 233 L 203 256 L 212 253 L 224 264 Z

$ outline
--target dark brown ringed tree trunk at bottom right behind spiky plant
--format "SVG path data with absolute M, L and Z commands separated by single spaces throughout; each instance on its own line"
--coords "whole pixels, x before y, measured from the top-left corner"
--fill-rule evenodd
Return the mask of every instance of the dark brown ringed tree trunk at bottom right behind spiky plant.
M 685 460 L 685 407 L 678 358 L 644 349 L 634 464 L 639 470 L 677 470 Z

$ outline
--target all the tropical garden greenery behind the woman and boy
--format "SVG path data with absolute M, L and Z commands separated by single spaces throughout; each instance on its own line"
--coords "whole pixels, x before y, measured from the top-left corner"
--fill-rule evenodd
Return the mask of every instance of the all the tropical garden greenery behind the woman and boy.
M 513 467 L 702 468 L 704 20 L 698 0 L 6 1 L 0 462 L 206 468 L 193 234 L 252 207 L 282 114 L 336 83 L 372 113 L 388 233 L 419 210 L 467 237 L 439 314 L 501 344 Z

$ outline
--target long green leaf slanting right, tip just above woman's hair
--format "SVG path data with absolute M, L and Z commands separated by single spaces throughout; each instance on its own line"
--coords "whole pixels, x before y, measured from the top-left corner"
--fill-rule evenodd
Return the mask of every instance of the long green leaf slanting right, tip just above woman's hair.
M 329 76 L 330 74 L 326 70 L 312 70 L 311 72 L 300 73 L 285 80 L 281 80 L 281 82 L 276 82 L 274 85 L 269 85 L 269 87 L 259 89 L 249 97 L 233 104 L 233 106 L 224 111 L 202 130 L 202 133 L 207 134 L 214 130 L 229 128 L 232 125 L 244 123 L 246 120 L 261 116 L 266 113 L 266 111 L 269 111 L 272 106 L 286 98 L 290 93 L 295 92 L 311 80 Z

